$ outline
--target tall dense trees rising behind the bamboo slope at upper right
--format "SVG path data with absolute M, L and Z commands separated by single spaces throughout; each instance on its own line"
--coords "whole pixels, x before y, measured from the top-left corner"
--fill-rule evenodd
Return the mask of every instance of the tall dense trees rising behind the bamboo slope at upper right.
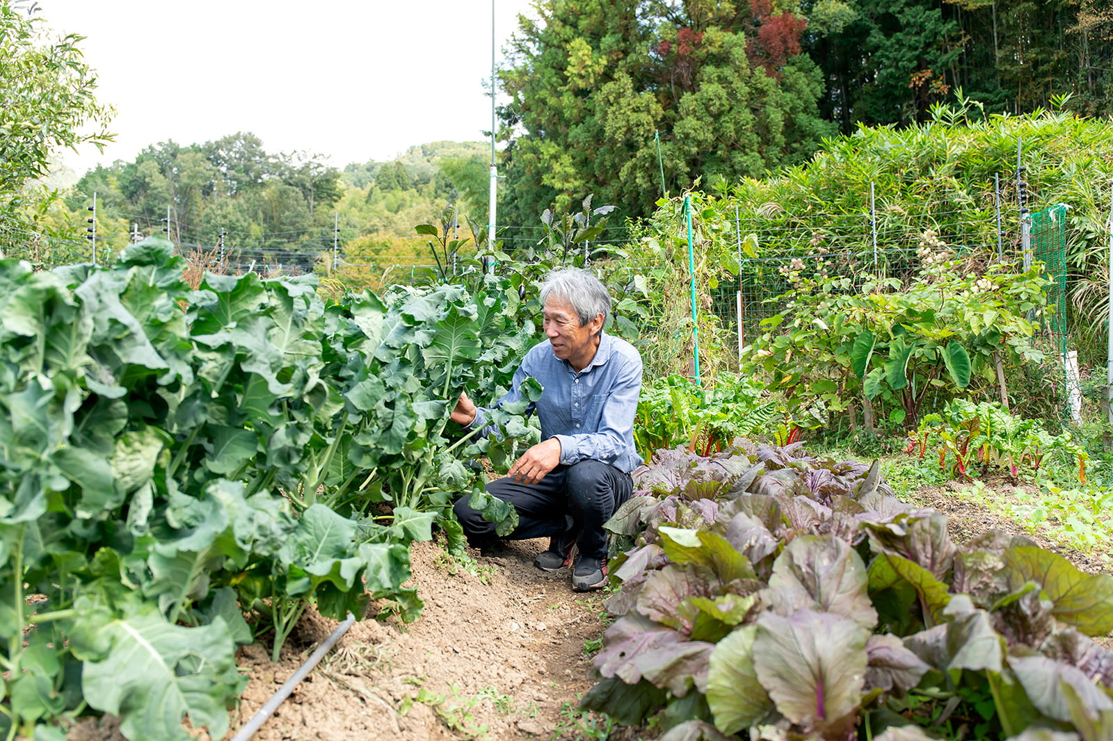
M 759 178 L 859 126 L 1113 110 L 1104 0 L 541 0 L 501 81 L 512 221 Z

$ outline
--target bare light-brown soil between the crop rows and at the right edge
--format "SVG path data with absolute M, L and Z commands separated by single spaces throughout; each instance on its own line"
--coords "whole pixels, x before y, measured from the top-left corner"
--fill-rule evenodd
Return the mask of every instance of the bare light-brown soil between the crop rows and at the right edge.
M 1109 572 L 1105 554 L 1064 549 L 959 497 L 956 483 L 912 498 L 948 515 L 957 542 L 997 528 L 1032 537 L 1083 571 Z M 542 738 L 653 739 L 648 729 L 615 729 L 574 712 L 591 685 L 592 648 L 608 625 L 603 594 L 572 592 L 568 571 L 545 573 L 533 556 L 546 541 L 471 551 L 472 573 L 434 543 L 412 550 L 413 584 L 425 601 L 420 620 L 390 614 L 356 623 L 255 735 L 259 741 L 466 741 Z M 272 663 L 269 646 L 240 650 L 249 684 L 228 738 L 247 722 L 336 626 L 307 613 Z M 592 645 L 592 642 L 595 645 Z M 1104 644 L 1111 645 L 1105 639 Z M 112 719 L 75 728 L 72 741 L 120 741 Z M 208 741 L 206 734 L 200 739 Z

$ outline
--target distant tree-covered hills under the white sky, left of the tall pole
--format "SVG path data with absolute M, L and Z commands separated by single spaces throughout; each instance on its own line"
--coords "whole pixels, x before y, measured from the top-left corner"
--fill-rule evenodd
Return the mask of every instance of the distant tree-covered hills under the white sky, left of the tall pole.
M 169 234 L 184 250 L 213 249 L 223 237 L 225 253 L 244 260 L 308 270 L 361 237 L 416 244 L 414 225 L 435 220 L 449 202 L 482 220 L 489 159 L 483 142 L 436 141 L 341 170 L 312 152 L 268 152 L 249 132 L 164 141 L 89 170 L 37 220 L 85 246 L 96 194 L 101 255 L 135 235 Z

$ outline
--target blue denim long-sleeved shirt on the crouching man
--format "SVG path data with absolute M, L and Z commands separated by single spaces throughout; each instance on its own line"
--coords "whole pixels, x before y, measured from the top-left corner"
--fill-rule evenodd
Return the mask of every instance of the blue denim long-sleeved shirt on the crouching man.
M 526 414 L 536 411 L 541 439 L 560 441 L 562 465 L 594 460 L 626 473 L 641 465 L 633 443 L 641 356 L 630 343 L 603 333 L 595 357 L 579 373 L 553 354 L 548 340 L 539 343 L 514 372 L 510 393 L 492 408 L 518 401 L 518 389 L 526 377 L 535 378 L 544 389 Z M 486 409 L 477 408 L 469 427 L 482 427 L 486 419 Z M 498 431 L 483 429 L 482 434 L 493 432 Z

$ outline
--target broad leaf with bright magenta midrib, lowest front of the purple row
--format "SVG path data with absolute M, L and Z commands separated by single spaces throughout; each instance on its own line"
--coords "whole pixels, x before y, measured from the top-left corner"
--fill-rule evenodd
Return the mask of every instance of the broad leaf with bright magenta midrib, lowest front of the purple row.
M 828 729 L 845 732 L 861 702 L 868 638 L 866 629 L 829 612 L 765 613 L 757 623 L 754 666 L 785 718 L 820 735 Z

